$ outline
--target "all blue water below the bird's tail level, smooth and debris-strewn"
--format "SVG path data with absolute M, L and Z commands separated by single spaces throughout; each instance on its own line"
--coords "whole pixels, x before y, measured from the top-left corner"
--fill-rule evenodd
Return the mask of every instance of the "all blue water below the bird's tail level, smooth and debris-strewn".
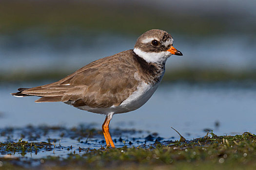
M 37 97 L 16 98 L 10 95 L 20 86 L 32 87 L 45 83 L 48 82 L 0 86 L 0 142 L 18 142 L 22 137 L 23 141 L 44 141 L 52 145 L 44 146 L 38 152 L 27 150 L 25 153 L 14 153 L 0 147 L 0 157 L 19 159 L 15 164 L 28 164 L 31 167 L 41 164 L 40 161 L 46 156 L 62 159 L 70 153 L 83 154 L 105 146 L 101 134 L 103 115 L 82 111 L 61 102 L 35 103 Z M 138 110 L 114 115 L 110 133 L 118 148 L 125 145 L 150 147 L 156 139 L 161 143 L 178 140 L 178 134 L 171 127 L 187 140 L 205 136 L 206 130 L 213 130 L 219 136 L 243 132 L 255 134 L 254 86 L 232 83 L 162 84 Z M 88 129 L 92 128 L 96 130 L 89 135 Z

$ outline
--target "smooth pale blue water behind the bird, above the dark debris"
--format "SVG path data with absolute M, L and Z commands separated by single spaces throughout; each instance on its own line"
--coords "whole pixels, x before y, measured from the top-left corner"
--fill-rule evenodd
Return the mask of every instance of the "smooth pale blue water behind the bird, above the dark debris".
M 35 103 L 37 97 L 16 98 L 10 95 L 20 86 L 37 85 L 0 87 L 0 128 L 24 127 L 28 124 L 65 127 L 86 124 L 101 128 L 103 115 L 82 111 L 61 102 Z M 110 129 L 144 130 L 157 132 L 161 137 L 178 138 L 171 129 L 174 127 L 187 139 L 205 135 L 204 129 L 212 129 L 217 135 L 246 131 L 256 133 L 256 89 L 253 86 L 162 84 L 138 110 L 114 115 Z

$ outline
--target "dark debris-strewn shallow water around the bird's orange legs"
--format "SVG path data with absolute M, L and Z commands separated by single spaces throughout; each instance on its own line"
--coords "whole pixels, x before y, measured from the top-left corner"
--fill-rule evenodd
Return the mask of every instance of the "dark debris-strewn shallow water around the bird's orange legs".
M 136 130 L 112 130 L 112 138 L 115 146 L 148 147 L 155 143 L 156 139 L 163 140 L 157 134 Z M 138 137 L 139 136 L 139 137 Z M 73 128 L 61 126 L 23 126 L 22 128 L 0 128 L 0 157 L 40 159 L 47 156 L 67 158 L 70 153 L 83 154 L 94 149 L 102 149 L 106 146 L 101 130 L 91 129 L 88 126 L 79 125 Z M 21 141 L 29 142 L 22 150 Z M 4 143 L 4 144 L 2 144 Z M 30 144 L 32 143 L 32 144 Z M 13 147 L 8 147 L 13 145 Z M 37 145 L 37 149 L 34 147 Z M 11 148 L 11 149 L 10 149 Z

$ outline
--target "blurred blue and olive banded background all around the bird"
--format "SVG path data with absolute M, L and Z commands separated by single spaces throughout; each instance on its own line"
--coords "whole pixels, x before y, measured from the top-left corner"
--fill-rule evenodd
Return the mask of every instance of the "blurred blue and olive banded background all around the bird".
M 86 64 L 133 49 L 162 29 L 183 53 L 166 64 L 162 85 L 140 109 L 111 126 L 193 138 L 256 133 L 256 1 L 1 0 L 0 127 L 74 126 L 104 117 L 63 103 L 14 98 L 19 87 L 58 81 Z

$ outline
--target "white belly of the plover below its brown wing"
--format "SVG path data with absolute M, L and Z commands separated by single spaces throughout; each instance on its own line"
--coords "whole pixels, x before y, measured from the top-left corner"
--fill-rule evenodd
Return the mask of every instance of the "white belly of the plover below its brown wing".
M 145 102 L 147 102 L 149 98 L 153 95 L 153 93 L 156 91 L 159 84 L 160 82 L 158 82 L 155 85 L 148 85 L 145 82 L 142 82 L 140 85 L 138 85 L 137 90 L 133 92 L 125 101 L 123 101 L 118 106 L 113 105 L 109 108 L 91 108 L 89 106 L 80 106 L 78 108 L 81 110 L 106 115 L 109 113 L 117 114 L 130 112 L 138 109 L 143 104 L 145 104 Z

